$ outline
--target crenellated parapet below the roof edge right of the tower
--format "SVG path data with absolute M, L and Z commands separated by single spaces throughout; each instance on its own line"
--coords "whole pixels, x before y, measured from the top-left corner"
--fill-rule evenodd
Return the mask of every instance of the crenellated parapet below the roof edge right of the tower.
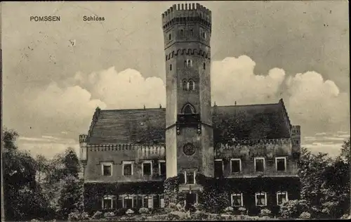
M 291 145 L 291 138 L 228 141 L 227 143 L 218 143 L 218 145 L 221 149 L 235 149 L 243 145 Z

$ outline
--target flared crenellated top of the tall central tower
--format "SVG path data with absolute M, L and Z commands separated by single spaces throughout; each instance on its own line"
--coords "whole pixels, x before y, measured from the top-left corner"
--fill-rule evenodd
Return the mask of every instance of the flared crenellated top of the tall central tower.
M 198 22 L 203 20 L 211 27 L 211 17 L 211 11 L 200 4 L 174 4 L 162 13 L 162 26 L 167 28 L 173 22 L 190 22 L 197 18 Z

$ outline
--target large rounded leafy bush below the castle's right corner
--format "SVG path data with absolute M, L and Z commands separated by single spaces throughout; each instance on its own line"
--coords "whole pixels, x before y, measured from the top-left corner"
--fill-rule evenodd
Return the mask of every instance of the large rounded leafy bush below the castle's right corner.
M 284 202 L 279 210 L 282 218 L 298 218 L 309 207 L 306 200 L 289 200 Z

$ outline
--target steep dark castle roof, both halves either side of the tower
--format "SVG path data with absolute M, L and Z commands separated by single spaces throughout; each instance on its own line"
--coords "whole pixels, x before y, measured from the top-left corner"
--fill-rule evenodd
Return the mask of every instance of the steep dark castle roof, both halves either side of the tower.
M 284 103 L 214 106 L 215 142 L 260 138 L 289 138 L 290 122 Z M 98 113 L 97 113 L 98 112 Z M 97 110 L 88 144 L 152 143 L 166 139 L 166 109 Z

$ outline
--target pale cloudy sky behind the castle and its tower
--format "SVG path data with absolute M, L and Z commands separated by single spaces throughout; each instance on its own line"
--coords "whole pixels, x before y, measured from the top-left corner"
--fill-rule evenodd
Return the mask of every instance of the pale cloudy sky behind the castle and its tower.
M 3 125 L 20 148 L 47 157 L 77 148 L 97 106 L 165 106 L 161 13 L 178 3 L 3 2 Z M 283 98 L 303 145 L 338 154 L 350 135 L 347 1 L 201 4 L 212 11 L 212 103 Z

